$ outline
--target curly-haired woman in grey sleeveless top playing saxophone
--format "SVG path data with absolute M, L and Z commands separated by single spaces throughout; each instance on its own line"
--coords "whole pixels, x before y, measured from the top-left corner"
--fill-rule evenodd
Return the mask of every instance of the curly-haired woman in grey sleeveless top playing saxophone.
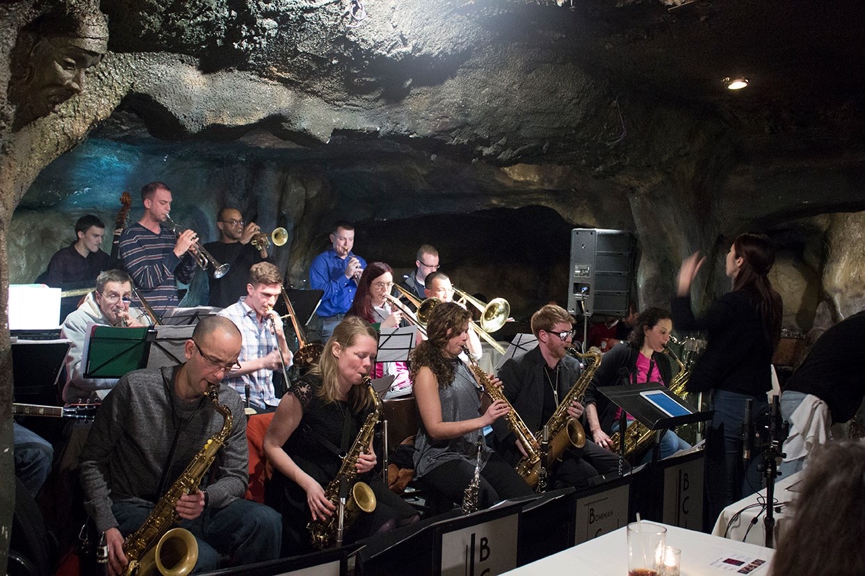
M 459 304 L 445 302 L 432 310 L 426 325 L 428 339 L 412 355 L 414 397 L 420 430 L 414 441 L 414 470 L 432 489 L 451 502 L 460 502 L 471 483 L 481 449 L 479 509 L 516 496 L 532 494 L 529 484 L 484 442 L 484 426 L 509 411 L 496 400 L 480 413 L 480 385 L 459 360 L 468 341 L 471 315 Z M 491 386 L 501 386 L 497 378 Z

